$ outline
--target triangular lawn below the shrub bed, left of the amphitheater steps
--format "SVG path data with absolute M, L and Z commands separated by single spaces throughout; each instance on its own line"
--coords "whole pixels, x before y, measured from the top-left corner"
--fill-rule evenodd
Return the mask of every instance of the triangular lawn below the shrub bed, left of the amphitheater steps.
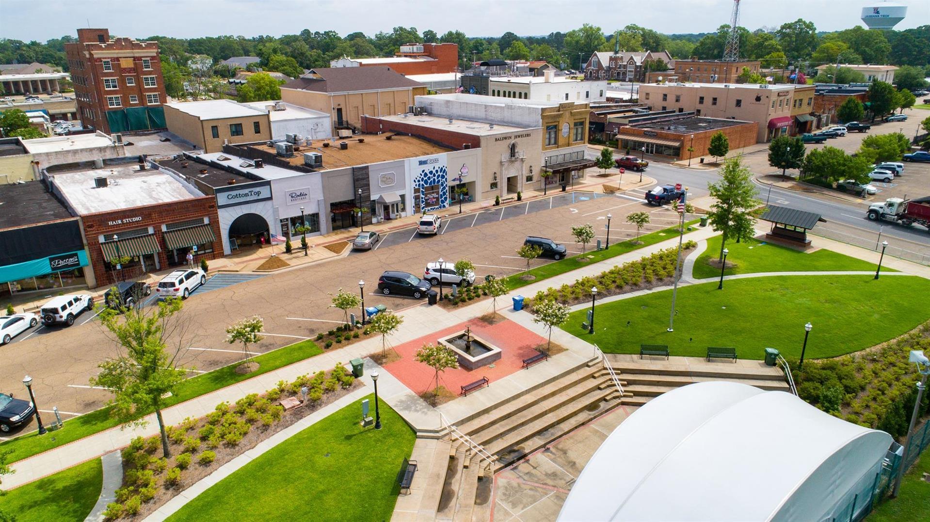
M 374 400 L 374 396 L 368 396 Z M 384 402 L 383 428 L 356 402 L 233 472 L 169 520 L 389 520 L 416 435 Z M 420 473 L 423 473 L 422 470 Z

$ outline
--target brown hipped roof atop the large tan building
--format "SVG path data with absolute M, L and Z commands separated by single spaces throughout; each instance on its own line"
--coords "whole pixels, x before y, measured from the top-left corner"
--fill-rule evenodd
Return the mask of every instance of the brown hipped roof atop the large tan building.
M 299 89 L 321 93 L 409 89 L 422 87 L 419 82 L 393 72 L 390 67 L 330 67 L 312 69 L 307 76 L 291 80 L 282 89 Z

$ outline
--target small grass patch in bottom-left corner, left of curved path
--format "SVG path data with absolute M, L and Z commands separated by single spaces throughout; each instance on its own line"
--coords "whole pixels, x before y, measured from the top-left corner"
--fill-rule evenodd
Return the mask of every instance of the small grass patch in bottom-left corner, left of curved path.
M 11 489 L 0 505 L 19 522 L 80 521 L 94 508 L 102 485 L 103 467 L 94 459 Z

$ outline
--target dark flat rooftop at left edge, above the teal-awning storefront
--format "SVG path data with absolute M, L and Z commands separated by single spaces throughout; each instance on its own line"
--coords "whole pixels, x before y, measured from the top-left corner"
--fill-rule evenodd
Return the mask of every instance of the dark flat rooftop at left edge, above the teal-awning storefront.
M 0 185 L 0 228 L 24 227 L 72 217 L 38 181 Z

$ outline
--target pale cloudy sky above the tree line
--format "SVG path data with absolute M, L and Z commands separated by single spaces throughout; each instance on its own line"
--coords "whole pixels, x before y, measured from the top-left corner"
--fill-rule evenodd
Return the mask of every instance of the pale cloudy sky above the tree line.
M 930 22 L 927 0 L 743 0 L 740 25 L 754 30 L 804 18 L 817 30 L 834 31 L 861 24 L 862 7 L 882 5 L 908 7 L 896 29 Z M 118 35 L 180 38 L 280 36 L 303 29 L 370 36 L 398 25 L 420 33 L 530 35 L 567 32 L 585 22 L 604 32 L 635 23 L 661 33 L 705 33 L 727 23 L 732 7 L 729 0 L 0 0 L 0 37 L 44 42 L 88 23 Z

